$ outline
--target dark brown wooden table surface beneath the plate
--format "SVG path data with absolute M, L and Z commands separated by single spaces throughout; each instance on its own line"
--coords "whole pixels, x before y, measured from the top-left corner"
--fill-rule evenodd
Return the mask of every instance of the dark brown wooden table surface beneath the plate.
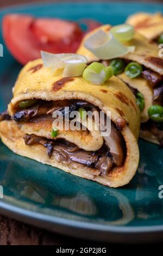
M 87 1 L 87 0 L 83 0 Z M 89 0 L 90 1 L 90 0 Z M 0 8 L 9 5 L 22 4 L 34 2 L 49 2 L 46 0 L 1 0 Z M 70 2 L 70 1 L 50 1 L 50 2 Z M 77 1 L 76 1 L 77 2 Z M 96 1 L 94 1 L 96 2 Z M 107 1 L 106 1 L 107 2 Z M 152 1 L 139 1 L 139 2 L 152 2 Z M 154 1 L 162 2 L 162 0 Z M 46 230 L 32 227 L 12 220 L 11 218 L 0 215 L 0 245 L 81 245 L 89 243 L 89 245 L 97 245 L 96 242 L 89 242 L 73 237 L 62 236 L 59 234 L 51 233 Z M 101 244 L 102 245 L 102 244 Z

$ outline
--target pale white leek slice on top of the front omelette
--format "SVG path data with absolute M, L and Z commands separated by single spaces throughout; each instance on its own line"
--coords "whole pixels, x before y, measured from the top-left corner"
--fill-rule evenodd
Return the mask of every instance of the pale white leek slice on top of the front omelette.
M 43 66 L 52 71 L 63 69 L 63 77 L 81 76 L 86 68 L 87 58 L 75 53 L 48 53 L 41 51 Z

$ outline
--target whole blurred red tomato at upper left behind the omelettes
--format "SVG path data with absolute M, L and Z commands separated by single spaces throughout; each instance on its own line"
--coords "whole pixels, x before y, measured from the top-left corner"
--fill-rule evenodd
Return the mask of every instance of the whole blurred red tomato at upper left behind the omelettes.
M 8 50 L 21 64 L 40 58 L 41 50 L 76 52 L 84 35 L 75 22 L 17 14 L 4 16 L 2 29 Z

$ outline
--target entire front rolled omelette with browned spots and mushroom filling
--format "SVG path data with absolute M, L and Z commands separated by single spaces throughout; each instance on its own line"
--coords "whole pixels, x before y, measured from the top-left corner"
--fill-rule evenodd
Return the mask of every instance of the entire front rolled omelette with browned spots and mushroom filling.
M 14 153 L 110 187 L 126 185 L 133 178 L 139 164 L 140 111 L 119 78 L 97 86 L 82 77 L 54 75 L 37 59 L 24 66 L 13 94 L 9 115 L 0 118 L 0 135 Z M 110 136 L 85 125 L 86 130 L 58 128 L 52 137 L 52 113 L 57 109 L 64 113 L 65 106 L 102 111 L 105 118 L 110 111 Z

